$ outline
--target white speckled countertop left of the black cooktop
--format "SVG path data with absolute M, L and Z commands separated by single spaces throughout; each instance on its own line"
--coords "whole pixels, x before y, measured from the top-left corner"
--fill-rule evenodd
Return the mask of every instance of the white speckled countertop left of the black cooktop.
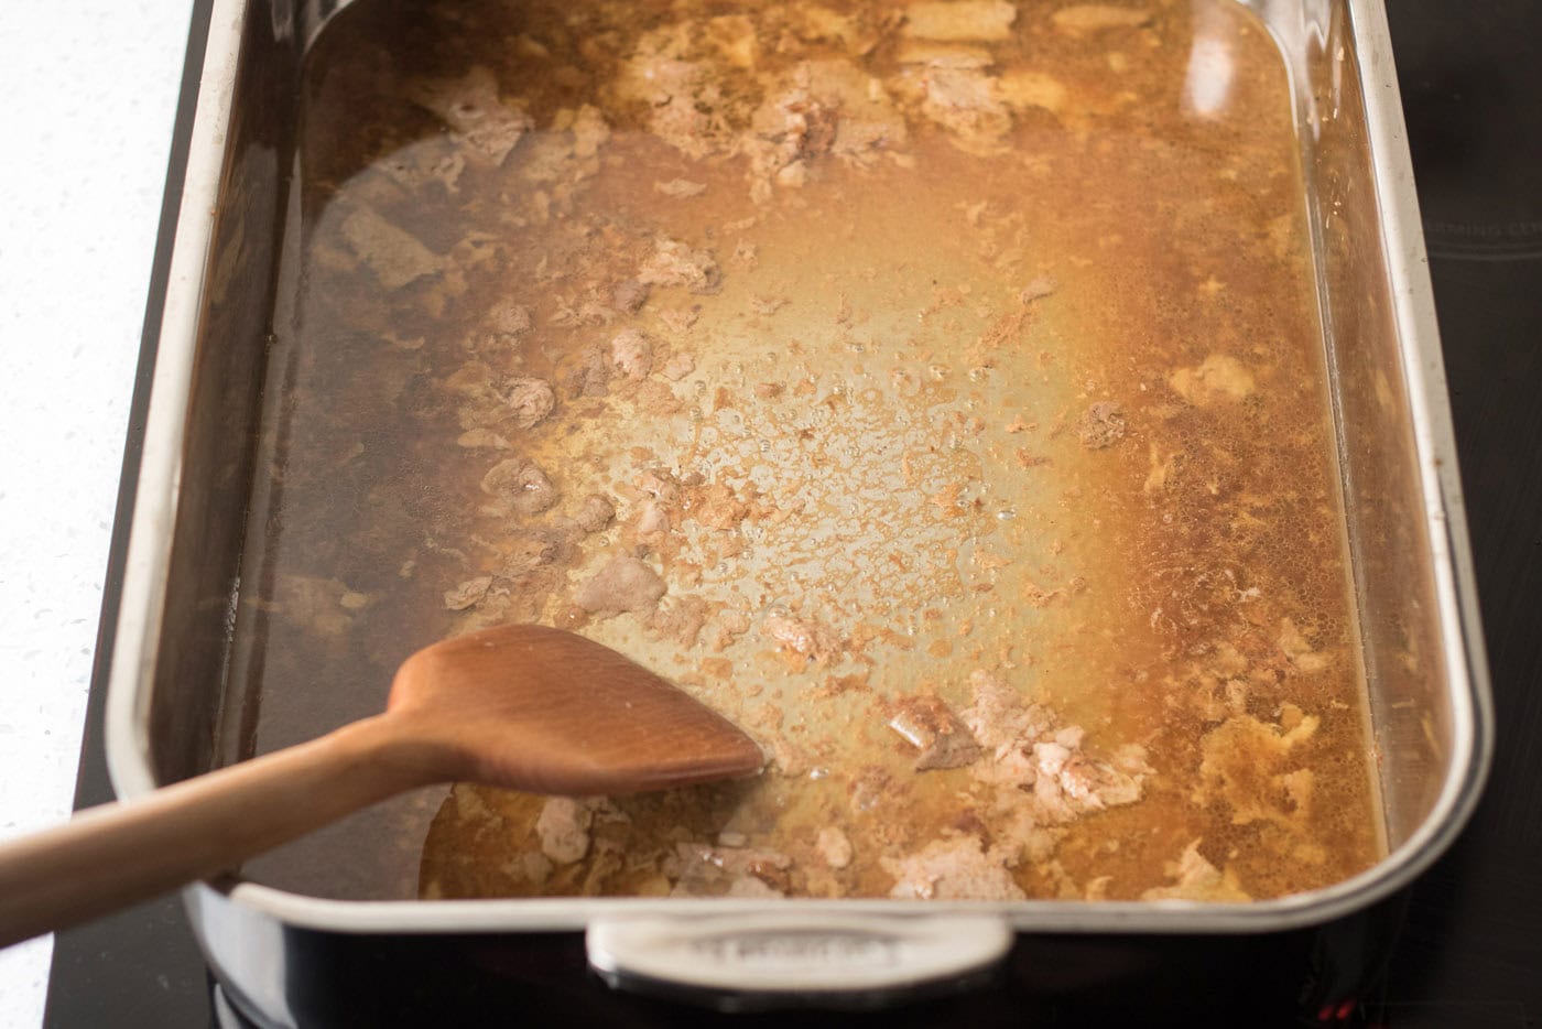
M 0 5 L 0 839 L 71 808 L 190 9 Z M 0 952 L 0 1029 L 49 953 Z

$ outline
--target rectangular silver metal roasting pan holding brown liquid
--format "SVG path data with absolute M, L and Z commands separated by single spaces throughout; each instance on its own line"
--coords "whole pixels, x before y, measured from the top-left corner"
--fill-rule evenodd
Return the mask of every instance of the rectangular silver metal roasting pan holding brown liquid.
M 1328 889 L 1247 904 L 356 901 L 241 878 L 190 887 L 205 955 L 248 1017 L 308 1024 L 308 998 L 330 989 L 322 969 L 362 967 L 361 947 L 503 940 L 529 953 L 574 933 L 611 984 L 726 1007 L 885 1003 L 917 984 L 976 984 L 1033 940 L 1140 946 L 1351 924 L 1385 910 L 1449 845 L 1482 788 L 1493 725 L 1385 12 L 1377 0 L 1241 2 L 1271 29 L 1294 91 L 1385 859 Z M 281 256 L 296 245 L 284 230 L 298 204 L 299 68 L 342 6 L 213 5 L 113 631 L 106 750 L 123 798 L 239 756 L 224 713 L 261 702 L 224 683 Z M 490 983 L 509 975 L 507 961 L 472 966 Z

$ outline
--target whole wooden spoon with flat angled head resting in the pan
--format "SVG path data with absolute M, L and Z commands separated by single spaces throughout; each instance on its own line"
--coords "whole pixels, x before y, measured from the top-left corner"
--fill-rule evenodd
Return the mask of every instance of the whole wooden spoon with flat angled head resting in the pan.
M 0 845 L 0 947 L 234 869 L 436 782 L 640 793 L 757 771 L 731 722 L 612 649 L 507 625 L 409 657 L 384 714 Z

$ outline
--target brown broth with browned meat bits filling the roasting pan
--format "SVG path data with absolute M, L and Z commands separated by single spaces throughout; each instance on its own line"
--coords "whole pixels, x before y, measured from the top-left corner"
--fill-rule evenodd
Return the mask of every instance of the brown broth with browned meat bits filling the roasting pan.
M 250 875 L 1247 899 L 1375 861 L 1289 94 L 1246 11 L 364 2 L 305 97 L 245 731 L 534 620 L 771 765 L 461 785 Z

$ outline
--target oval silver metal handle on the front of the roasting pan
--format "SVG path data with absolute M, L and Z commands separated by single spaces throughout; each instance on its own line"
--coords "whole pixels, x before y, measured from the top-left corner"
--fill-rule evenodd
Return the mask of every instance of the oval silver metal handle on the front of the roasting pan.
M 999 915 L 756 912 L 591 923 L 614 987 L 722 1010 L 873 1007 L 984 983 L 1012 949 Z

